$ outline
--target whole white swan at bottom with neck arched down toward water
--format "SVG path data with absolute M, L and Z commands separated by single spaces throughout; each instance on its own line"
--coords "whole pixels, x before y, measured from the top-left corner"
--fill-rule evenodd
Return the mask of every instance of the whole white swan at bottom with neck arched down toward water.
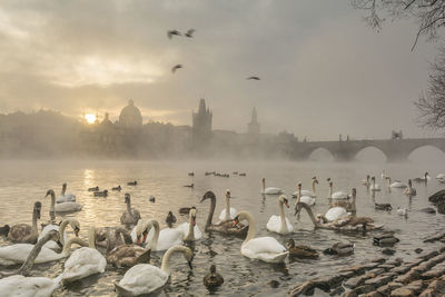
M 181 253 L 191 269 L 194 257 L 191 250 L 188 247 L 175 246 L 164 255 L 160 268 L 149 264 L 138 264 L 131 267 L 119 283 L 115 283 L 117 293 L 123 296 L 138 296 L 161 288 L 169 279 L 169 261 L 175 253 Z

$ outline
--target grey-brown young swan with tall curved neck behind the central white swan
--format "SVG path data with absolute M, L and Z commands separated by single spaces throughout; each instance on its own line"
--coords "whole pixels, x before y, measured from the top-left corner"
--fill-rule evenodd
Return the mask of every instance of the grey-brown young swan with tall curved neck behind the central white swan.
M 207 191 L 204 196 L 200 202 L 204 202 L 205 200 L 210 199 L 210 209 L 209 214 L 207 216 L 207 221 L 206 221 L 206 227 L 205 230 L 207 232 L 220 232 L 225 235 L 234 235 L 238 237 L 246 237 L 248 226 L 238 224 L 237 226 L 234 226 L 233 220 L 225 220 L 220 221 L 218 224 L 212 224 L 211 220 L 214 218 L 214 212 L 216 208 L 216 196 L 212 191 Z M 235 218 L 235 217 L 234 217 Z

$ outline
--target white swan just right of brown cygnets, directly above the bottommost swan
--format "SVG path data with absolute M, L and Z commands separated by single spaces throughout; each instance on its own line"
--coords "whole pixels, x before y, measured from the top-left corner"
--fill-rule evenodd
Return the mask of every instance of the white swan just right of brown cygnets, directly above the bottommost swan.
M 182 244 L 184 234 L 176 228 L 159 230 L 157 220 L 149 220 L 146 226 L 150 229 L 146 240 L 147 248 L 151 250 L 167 250 Z

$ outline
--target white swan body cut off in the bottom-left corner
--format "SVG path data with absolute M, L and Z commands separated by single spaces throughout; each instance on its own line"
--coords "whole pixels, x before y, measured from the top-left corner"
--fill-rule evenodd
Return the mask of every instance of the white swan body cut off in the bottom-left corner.
M 0 279 L 0 291 L 2 296 L 20 297 L 49 297 L 59 287 L 62 276 L 55 279 L 47 277 L 24 277 L 14 275 Z

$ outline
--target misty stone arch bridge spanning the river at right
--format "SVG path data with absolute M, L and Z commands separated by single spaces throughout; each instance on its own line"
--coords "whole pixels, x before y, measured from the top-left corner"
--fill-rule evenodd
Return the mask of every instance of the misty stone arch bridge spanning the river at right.
M 293 142 L 286 154 L 293 159 L 305 160 L 317 149 L 326 149 L 335 160 L 354 160 L 357 154 L 373 147 L 380 150 L 387 161 L 404 161 L 415 149 L 431 146 L 445 152 L 445 138 L 407 138 L 387 140 L 346 140 L 346 141 L 310 141 Z

